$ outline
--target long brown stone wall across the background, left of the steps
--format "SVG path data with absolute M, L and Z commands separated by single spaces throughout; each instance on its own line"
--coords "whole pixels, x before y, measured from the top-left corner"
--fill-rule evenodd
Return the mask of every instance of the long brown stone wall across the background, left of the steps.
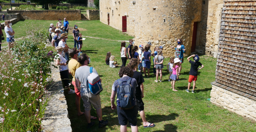
M 26 20 L 81 20 L 81 10 L 7 10 L 8 14 L 20 14 L 20 19 Z

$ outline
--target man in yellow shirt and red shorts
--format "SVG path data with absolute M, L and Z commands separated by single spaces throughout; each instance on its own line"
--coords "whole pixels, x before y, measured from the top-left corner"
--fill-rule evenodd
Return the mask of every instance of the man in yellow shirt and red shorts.
M 70 61 L 69 61 L 69 73 L 72 74 L 73 79 L 72 79 L 72 84 L 74 85 L 75 88 L 75 104 L 76 104 L 76 108 L 78 111 L 78 116 L 81 116 L 84 114 L 84 112 L 81 112 L 80 110 L 80 99 L 81 99 L 81 95 L 80 92 L 78 91 L 76 84 L 75 84 L 75 71 L 77 68 L 79 68 L 81 66 L 81 64 L 79 62 L 77 62 L 78 57 L 80 56 L 79 51 L 76 48 L 72 48 L 69 49 L 69 56 L 71 57 Z M 93 117 L 91 116 L 91 119 L 97 119 L 97 117 Z

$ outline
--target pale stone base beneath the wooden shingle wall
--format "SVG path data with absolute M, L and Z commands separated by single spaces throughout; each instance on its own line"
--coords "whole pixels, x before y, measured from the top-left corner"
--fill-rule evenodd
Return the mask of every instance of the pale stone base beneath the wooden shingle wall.
M 254 100 L 237 93 L 245 95 L 240 91 L 234 91 L 234 89 L 227 90 L 219 86 L 212 85 L 211 102 L 222 106 L 231 112 L 235 112 L 238 115 L 256 121 L 256 97 Z

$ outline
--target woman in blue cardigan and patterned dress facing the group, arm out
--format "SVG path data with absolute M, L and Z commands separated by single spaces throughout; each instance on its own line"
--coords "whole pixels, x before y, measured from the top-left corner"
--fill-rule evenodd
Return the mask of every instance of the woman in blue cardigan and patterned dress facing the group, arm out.
M 181 69 L 182 69 L 181 64 L 183 63 L 183 53 L 186 52 L 186 49 L 185 49 L 185 46 L 183 45 L 183 41 L 182 41 L 181 38 L 179 38 L 177 40 L 177 43 L 178 43 L 178 45 L 177 45 L 176 48 L 173 47 L 173 46 L 171 46 L 171 48 L 175 48 L 175 52 L 176 52 L 175 58 L 179 58 L 180 59 L 180 67 L 179 67 L 178 75 L 181 75 Z

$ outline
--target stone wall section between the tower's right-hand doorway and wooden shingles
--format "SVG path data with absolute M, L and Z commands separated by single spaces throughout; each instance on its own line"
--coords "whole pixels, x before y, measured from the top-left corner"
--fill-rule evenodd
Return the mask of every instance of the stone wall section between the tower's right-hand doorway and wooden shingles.
M 223 0 L 206 0 L 203 2 L 202 21 L 197 28 L 200 35 L 196 44 L 196 52 L 217 57 L 223 3 Z

